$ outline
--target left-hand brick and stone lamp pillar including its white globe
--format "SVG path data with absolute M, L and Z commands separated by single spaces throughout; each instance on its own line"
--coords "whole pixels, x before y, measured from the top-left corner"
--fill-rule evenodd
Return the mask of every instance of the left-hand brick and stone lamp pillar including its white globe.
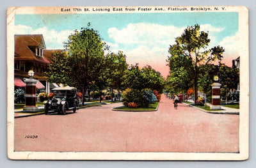
M 39 109 L 36 107 L 36 82 L 38 80 L 33 79 L 34 72 L 29 70 L 28 72 L 29 79 L 24 78 L 26 83 L 26 95 L 25 95 L 25 107 L 24 112 L 38 112 Z

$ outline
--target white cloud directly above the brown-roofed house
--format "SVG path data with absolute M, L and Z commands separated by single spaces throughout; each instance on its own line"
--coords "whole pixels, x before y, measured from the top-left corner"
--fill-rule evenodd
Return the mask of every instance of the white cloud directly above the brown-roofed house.
M 34 30 L 29 26 L 15 26 L 15 34 L 43 34 L 47 49 L 63 49 L 63 42 L 67 42 L 71 33 L 73 31 L 64 30 L 58 32 L 53 29 L 47 29 L 47 27 L 40 27 Z

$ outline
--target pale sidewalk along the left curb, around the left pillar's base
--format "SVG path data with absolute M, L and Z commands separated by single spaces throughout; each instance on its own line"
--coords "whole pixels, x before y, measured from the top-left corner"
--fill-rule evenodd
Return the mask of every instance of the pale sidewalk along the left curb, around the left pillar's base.
M 86 104 L 91 104 L 91 103 L 95 103 L 95 102 L 84 102 L 84 105 Z M 102 104 L 109 104 L 108 102 L 102 102 Z M 86 107 L 81 107 L 79 105 L 79 107 L 77 107 L 77 109 L 81 109 L 81 108 L 86 108 Z M 23 109 L 15 109 L 14 110 L 14 118 L 24 118 L 24 117 L 29 117 L 29 116 L 38 116 L 38 115 L 42 115 L 45 114 L 44 113 L 44 105 L 38 105 L 38 109 L 39 112 L 23 112 Z

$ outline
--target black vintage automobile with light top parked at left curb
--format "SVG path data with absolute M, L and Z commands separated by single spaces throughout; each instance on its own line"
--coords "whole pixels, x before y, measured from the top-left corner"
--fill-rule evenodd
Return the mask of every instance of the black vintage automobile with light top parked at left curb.
M 76 112 L 78 105 L 77 89 L 66 86 L 52 89 L 54 97 L 44 103 L 45 115 L 49 111 L 58 112 L 59 114 L 66 114 L 67 110 Z

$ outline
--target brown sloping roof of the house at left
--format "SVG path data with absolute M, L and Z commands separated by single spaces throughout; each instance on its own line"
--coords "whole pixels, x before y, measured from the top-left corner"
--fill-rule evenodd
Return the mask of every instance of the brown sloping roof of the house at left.
M 49 60 L 42 56 L 36 56 L 29 47 L 45 49 L 44 37 L 42 34 L 34 35 L 15 35 L 15 60 L 36 61 L 49 64 Z

